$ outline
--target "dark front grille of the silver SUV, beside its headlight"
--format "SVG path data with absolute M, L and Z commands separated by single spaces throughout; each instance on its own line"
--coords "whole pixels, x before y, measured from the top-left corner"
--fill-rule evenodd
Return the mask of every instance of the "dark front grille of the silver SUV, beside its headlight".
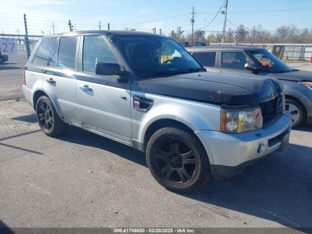
M 271 122 L 283 111 L 283 98 L 283 95 L 278 95 L 273 100 L 258 104 L 262 111 L 263 125 Z

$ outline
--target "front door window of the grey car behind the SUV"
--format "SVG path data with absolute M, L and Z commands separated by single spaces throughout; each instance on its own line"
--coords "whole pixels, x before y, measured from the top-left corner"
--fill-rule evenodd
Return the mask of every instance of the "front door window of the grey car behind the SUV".
M 245 64 L 251 62 L 243 52 L 222 52 L 221 67 L 245 70 Z

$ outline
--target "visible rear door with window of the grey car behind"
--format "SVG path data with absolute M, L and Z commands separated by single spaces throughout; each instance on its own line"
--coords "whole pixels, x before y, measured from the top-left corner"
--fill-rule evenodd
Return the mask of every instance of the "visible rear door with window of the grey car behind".
M 217 71 L 217 52 L 216 51 L 195 51 L 192 56 L 203 66 L 207 71 Z

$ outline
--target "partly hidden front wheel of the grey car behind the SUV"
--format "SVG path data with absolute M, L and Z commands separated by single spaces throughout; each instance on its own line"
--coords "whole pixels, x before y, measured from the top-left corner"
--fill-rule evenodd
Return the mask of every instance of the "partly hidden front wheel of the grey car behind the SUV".
M 285 99 L 285 109 L 292 115 L 292 128 L 299 127 L 306 119 L 306 109 L 301 102 L 287 98 Z

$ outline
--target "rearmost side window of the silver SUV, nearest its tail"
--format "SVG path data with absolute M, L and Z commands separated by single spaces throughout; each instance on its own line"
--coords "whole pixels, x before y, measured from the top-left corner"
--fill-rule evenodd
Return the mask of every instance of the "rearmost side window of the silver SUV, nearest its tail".
M 55 38 L 43 39 L 33 59 L 33 64 L 46 66 Z

